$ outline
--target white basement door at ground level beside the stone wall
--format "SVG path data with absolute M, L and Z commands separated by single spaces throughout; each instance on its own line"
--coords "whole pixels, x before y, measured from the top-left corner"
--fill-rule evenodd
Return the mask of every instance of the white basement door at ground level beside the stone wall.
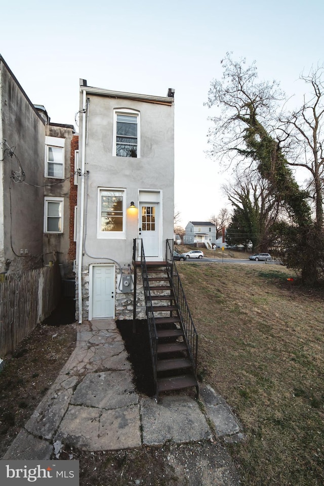
M 95 265 L 92 274 L 92 318 L 115 315 L 115 267 Z

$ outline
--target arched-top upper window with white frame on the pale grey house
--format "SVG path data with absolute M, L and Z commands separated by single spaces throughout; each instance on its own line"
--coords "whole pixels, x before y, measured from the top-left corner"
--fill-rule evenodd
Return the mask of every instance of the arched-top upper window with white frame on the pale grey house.
M 140 114 L 129 109 L 114 110 L 113 154 L 140 157 Z

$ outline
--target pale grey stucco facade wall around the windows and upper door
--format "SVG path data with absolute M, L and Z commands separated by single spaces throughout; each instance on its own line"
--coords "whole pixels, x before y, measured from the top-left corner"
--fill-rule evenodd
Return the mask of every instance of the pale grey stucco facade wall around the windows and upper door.
M 85 88 L 86 89 L 86 88 Z M 132 265 L 133 240 L 139 238 L 139 197 L 143 192 L 155 192 L 159 198 L 161 217 L 159 258 L 165 257 L 165 241 L 173 239 L 174 217 L 174 105 L 173 99 L 137 99 L 138 95 L 126 97 L 101 96 L 87 89 L 89 112 L 80 115 L 79 164 L 84 157 L 85 170 L 85 229 L 82 254 L 82 275 L 87 279 L 92 263 L 116 262 L 116 271 L 127 272 Z M 83 109 L 83 92 L 80 110 Z M 113 156 L 113 110 L 131 109 L 140 113 L 141 155 L 139 158 Z M 83 123 L 87 122 L 85 137 Z M 136 210 L 127 210 L 126 231 L 123 238 L 98 238 L 98 188 L 115 188 L 125 191 L 125 203 L 134 201 Z M 82 197 L 82 185 L 78 184 L 78 208 Z M 79 211 L 78 218 L 82 214 Z M 80 261 L 80 219 L 77 232 L 77 264 Z M 83 292 L 83 308 L 87 314 L 89 294 Z M 91 298 L 91 296 L 90 296 Z M 120 303 L 120 296 L 118 299 Z M 128 306 L 130 307 L 130 306 Z M 116 305 L 117 309 L 117 305 Z M 132 318 L 131 308 L 129 318 Z M 123 318 L 125 318 L 123 308 Z M 85 318 L 87 316 L 84 316 Z

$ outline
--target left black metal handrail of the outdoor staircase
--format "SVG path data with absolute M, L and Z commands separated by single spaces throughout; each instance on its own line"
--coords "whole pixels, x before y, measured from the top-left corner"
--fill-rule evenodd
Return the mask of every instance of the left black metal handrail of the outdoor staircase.
M 141 242 L 141 270 L 142 270 L 142 279 L 143 279 L 143 288 L 144 288 L 144 298 L 145 298 L 145 310 L 146 310 L 146 318 L 147 318 L 147 325 L 148 325 L 148 333 L 149 333 L 149 341 L 150 341 L 150 351 L 151 351 L 151 360 L 152 360 L 152 368 L 153 368 L 153 378 L 154 378 L 154 386 L 155 386 L 155 395 L 157 397 L 157 332 L 156 332 L 156 325 L 155 319 L 153 314 L 153 304 L 152 304 L 152 297 L 150 291 L 150 284 L 148 280 L 148 273 L 147 273 L 147 266 L 144 254 L 144 247 L 143 241 Z M 134 244 L 136 247 L 136 243 Z

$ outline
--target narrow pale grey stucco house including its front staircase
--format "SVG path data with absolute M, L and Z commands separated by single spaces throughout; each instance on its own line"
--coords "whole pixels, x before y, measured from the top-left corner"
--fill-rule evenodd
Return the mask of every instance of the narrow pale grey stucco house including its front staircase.
M 147 321 L 155 395 L 195 387 L 198 336 L 173 261 L 174 90 L 80 80 L 76 314 Z M 131 325 L 131 324 L 130 324 Z

